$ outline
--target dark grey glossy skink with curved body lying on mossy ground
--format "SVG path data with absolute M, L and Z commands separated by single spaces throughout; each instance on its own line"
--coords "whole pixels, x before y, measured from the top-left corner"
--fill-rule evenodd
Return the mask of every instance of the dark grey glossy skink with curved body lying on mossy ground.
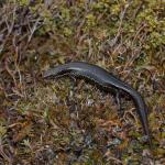
M 44 78 L 57 78 L 63 76 L 82 78 L 101 87 L 106 91 L 110 91 L 111 88 L 116 88 L 129 94 L 133 98 L 133 101 L 135 103 L 144 134 L 147 136 L 147 140 L 151 143 L 147 109 L 141 95 L 135 89 L 133 89 L 128 84 L 123 82 L 106 69 L 85 62 L 72 62 L 68 64 L 59 65 L 44 72 L 43 74 Z

